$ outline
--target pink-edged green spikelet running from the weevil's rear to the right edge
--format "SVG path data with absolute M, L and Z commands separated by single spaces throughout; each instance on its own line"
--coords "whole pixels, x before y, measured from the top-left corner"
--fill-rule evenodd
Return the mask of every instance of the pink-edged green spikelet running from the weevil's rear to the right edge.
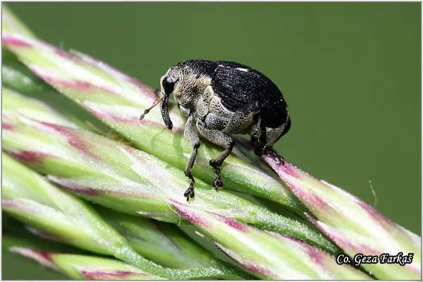
M 421 238 L 393 223 L 374 208 L 341 188 L 317 180 L 285 161 L 263 160 L 316 216 L 309 219 L 350 257 L 388 253 L 414 254 L 412 263 L 362 264 L 376 278 L 418 279 L 421 277 Z

